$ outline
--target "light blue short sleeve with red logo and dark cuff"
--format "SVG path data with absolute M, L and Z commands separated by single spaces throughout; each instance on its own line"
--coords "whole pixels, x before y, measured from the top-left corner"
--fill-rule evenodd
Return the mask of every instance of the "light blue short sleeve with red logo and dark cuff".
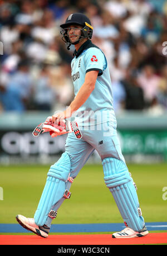
M 89 48 L 85 55 L 86 73 L 91 70 L 99 70 L 98 75 L 102 75 L 106 65 L 104 53 L 98 48 Z

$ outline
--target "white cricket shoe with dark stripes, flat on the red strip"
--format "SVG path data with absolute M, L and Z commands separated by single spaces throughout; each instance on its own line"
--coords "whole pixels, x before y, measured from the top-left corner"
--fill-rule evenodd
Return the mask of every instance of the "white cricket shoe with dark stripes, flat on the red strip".
M 116 232 L 112 234 L 112 238 L 141 238 L 142 236 L 148 235 L 149 231 L 146 227 L 140 232 L 130 229 L 130 227 L 125 227 L 121 232 Z

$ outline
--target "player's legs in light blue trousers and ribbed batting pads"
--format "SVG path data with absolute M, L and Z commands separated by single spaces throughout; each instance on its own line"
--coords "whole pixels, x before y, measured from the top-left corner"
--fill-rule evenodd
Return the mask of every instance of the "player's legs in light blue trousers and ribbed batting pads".
M 135 231 L 141 231 L 145 225 L 144 219 L 141 216 L 132 178 L 121 153 L 116 123 L 105 122 L 97 126 L 84 126 L 80 127 L 80 130 L 80 140 L 75 138 L 73 132 L 68 134 L 65 153 L 51 166 L 47 174 L 47 182 L 35 214 L 36 224 L 51 227 L 52 219 L 48 212 L 57 211 L 65 200 L 63 193 L 71 187 L 68 175 L 74 179 L 90 155 L 97 150 L 104 169 L 105 184 L 114 196 L 122 219 L 127 226 Z

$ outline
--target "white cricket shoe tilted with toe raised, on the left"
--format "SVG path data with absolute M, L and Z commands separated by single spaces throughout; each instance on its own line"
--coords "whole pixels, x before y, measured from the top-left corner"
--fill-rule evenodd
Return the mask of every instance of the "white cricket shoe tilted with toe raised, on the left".
M 23 215 L 17 215 L 16 220 L 18 223 L 24 227 L 24 229 L 30 230 L 36 235 L 42 236 L 42 238 L 47 238 L 50 228 L 46 225 L 37 226 L 33 218 L 26 218 Z

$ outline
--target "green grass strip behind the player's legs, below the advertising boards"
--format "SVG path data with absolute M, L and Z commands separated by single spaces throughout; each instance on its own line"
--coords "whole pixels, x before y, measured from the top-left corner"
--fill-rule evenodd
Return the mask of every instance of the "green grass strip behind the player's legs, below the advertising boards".
M 137 195 L 145 222 L 167 221 L 167 164 L 129 164 L 137 185 Z M 0 166 L 0 223 L 17 223 L 15 216 L 33 217 L 40 200 L 49 166 Z M 122 222 L 109 189 L 105 186 L 102 165 L 85 165 L 71 189 L 70 200 L 63 202 L 53 224 Z

